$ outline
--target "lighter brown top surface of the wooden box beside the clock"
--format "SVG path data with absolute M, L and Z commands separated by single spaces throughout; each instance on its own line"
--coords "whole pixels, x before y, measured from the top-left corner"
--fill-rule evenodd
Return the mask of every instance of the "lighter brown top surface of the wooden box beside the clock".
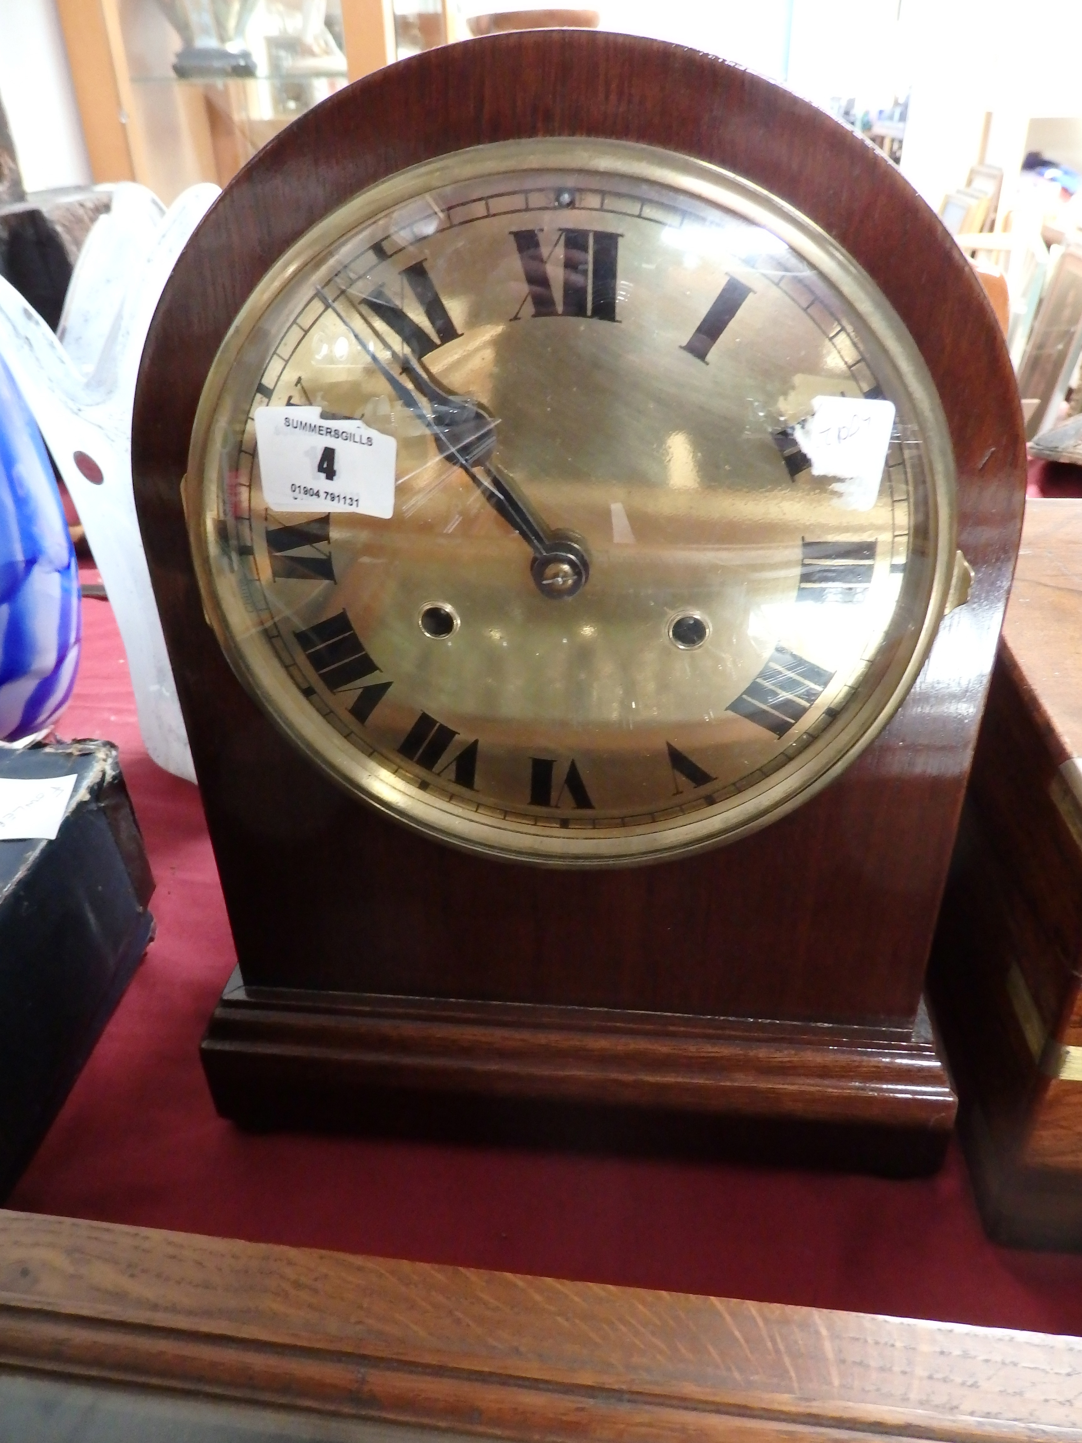
M 1001 655 L 1056 763 L 1082 756 L 1082 501 L 1026 502 Z

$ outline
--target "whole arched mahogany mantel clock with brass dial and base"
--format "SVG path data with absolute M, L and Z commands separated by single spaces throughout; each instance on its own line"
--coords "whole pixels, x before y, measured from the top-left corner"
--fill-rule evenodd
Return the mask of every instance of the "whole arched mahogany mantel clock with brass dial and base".
M 237 944 L 225 1115 L 935 1165 L 1024 443 L 877 152 L 628 36 L 394 65 L 193 235 L 133 463 Z

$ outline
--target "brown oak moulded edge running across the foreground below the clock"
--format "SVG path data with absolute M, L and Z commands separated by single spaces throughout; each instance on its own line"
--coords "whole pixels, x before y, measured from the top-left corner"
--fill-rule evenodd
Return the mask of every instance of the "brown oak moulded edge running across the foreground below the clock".
M 0 1368 L 506 1439 L 1082 1440 L 1082 1339 L 6 1211 Z

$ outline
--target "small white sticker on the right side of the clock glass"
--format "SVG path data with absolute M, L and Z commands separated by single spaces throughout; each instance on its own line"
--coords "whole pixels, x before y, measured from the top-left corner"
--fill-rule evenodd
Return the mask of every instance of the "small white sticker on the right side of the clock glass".
M 876 505 L 890 433 L 893 401 L 853 395 L 817 395 L 812 414 L 793 427 L 793 437 L 811 462 L 812 476 L 835 476 L 831 491 L 844 511 Z

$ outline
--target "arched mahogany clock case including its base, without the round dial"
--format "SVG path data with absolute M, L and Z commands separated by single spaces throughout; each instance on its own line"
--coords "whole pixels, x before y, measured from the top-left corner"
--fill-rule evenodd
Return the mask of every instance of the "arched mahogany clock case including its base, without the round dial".
M 724 846 L 654 866 L 456 850 L 336 786 L 287 740 L 203 618 L 180 479 L 201 391 L 261 277 L 351 196 L 433 157 L 591 136 L 762 186 L 880 287 L 938 390 L 969 600 L 848 769 Z M 923 1004 L 932 929 L 1023 505 L 995 320 L 932 212 L 871 146 L 691 51 L 532 32 L 449 46 L 276 137 L 185 250 L 150 329 L 136 502 L 237 944 L 203 1042 L 219 1111 L 600 1141 L 697 1118 L 750 1146 L 933 1166 L 955 1095 Z

